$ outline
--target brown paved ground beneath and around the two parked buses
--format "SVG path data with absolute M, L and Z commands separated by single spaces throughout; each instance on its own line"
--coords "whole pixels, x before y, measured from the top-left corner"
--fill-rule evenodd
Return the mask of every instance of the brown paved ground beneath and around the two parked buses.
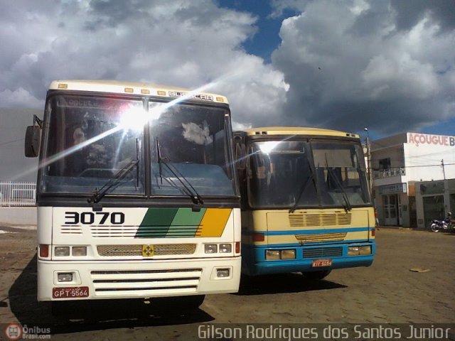
M 0 234 L 0 340 L 7 323 L 48 324 L 52 340 L 197 340 L 208 323 L 455 323 L 455 234 L 381 228 L 369 268 L 336 270 L 319 283 L 262 277 L 240 293 L 207 296 L 191 313 L 122 301 L 55 318 L 36 302 L 35 232 L 0 229 L 10 232 Z

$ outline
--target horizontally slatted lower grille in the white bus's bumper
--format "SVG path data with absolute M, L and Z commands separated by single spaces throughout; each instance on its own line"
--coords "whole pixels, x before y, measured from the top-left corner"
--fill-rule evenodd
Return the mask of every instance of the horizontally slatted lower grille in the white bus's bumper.
M 91 271 L 96 296 L 196 293 L 202 269 Z

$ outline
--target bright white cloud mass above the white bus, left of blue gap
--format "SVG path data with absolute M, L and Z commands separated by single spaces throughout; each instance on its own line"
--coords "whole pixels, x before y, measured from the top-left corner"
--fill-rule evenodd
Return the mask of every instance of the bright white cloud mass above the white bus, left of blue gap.
M 22 87 L 43 99 L 54 79 L 105 78 L 188 88 L 218 81 L 207 91 L 225 94 L 237 121 L 281 112 L 287 88 L 282 72 L 242 50 L 257 30 L 257 18 L 250 13 L 222 9 L 211 0 L 137 0 L 134 6 L 61 1 L 53 2 L 48 12 L 28 3 L 17 1 L 18 10 L 9 13 L 15 33 L 0 33 L 2 45 L 14 45 L 9 62 L 0 63 L 0 90 Z M 19 38 L 26 43 L 14 43 Z

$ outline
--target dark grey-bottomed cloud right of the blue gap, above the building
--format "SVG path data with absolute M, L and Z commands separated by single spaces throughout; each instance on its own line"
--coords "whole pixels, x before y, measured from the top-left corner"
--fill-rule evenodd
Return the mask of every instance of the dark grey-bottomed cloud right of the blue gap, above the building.
M 281 12 L 301 12 L 282 22 L 272 55 L 289 84 L 282 119 L 392 134 L 455 118 L 455 31 L 442 31 L 439 12 L 426 7 L 410 28 L 398 28 L 404 9 L 394 4 L 276 1 Z

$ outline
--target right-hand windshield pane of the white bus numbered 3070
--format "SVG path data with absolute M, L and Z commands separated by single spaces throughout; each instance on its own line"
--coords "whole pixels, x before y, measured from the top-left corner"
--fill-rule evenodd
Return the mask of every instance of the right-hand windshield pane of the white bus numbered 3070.
M 149 112 L 152 193 L 235 194 L 226 109 L 150 103 Z

